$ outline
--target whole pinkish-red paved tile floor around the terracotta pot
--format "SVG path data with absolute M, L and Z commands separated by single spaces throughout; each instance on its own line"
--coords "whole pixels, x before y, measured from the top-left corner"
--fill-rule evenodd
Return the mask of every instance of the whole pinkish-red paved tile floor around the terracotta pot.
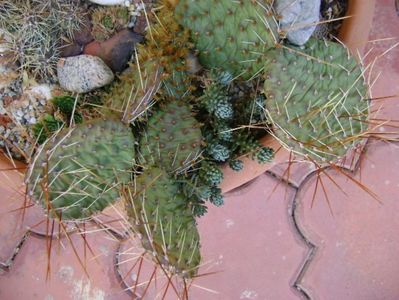
M 371 75 L 375 118 L 399 116 L 398 38 L 394 1 L 378 0 L 365 52 L 366 63 L 380 57 Z M 390 124 L 347 170 L 299 163 L 287 179 L 276 166 L 210 208 L 199 219 L 205 275 L 190 299 L 399 299 L 399 144 L 379 139 L 397 136 Z M 18 210 L 22 175 L 0 176 L 9 182 L 0 188 L 0 299 L 176 299 L 142 259 L 117 207 L 84 228 L 55 224 L 51 235 L 39 210 Z M 157 286 L 147 286 L 153 273 Z

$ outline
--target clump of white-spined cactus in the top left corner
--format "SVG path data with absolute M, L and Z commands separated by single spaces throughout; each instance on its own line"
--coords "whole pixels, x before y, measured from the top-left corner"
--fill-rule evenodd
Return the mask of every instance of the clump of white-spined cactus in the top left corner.
M 82 9 L 73 0 L 2 1 L 0 27 L 11 40 L 22 70 L 37 79 L 55 80 L 61 37 L 73 38 L 82 25 Z

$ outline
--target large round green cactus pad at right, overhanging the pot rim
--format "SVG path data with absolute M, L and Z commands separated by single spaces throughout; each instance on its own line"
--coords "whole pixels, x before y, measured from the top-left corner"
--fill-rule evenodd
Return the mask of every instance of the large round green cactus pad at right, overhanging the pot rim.
M 265 62 L 266 109 L 276 137 L 315 161 L 334 161 L 364 137 L 369 103 L 363 72 L 341 44 L 311 40 Z

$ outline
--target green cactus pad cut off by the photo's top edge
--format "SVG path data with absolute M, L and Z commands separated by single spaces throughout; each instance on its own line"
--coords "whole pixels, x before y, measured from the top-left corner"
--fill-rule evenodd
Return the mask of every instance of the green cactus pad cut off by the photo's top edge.
M 244 79 L 261 72 L 265 53 L 278 42 L 267 1 L 180 0 L 175 15 L 191 30 L 202 65 Z

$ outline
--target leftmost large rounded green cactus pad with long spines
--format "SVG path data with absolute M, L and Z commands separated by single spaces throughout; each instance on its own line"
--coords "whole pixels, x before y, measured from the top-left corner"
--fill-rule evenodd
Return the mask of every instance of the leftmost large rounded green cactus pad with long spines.
M 133 159 L 133 134 L 119 121 L 93 120 L 64 129 L 34 158 L 28 192 L 52 217 L 85 219 L 119 198 Z

